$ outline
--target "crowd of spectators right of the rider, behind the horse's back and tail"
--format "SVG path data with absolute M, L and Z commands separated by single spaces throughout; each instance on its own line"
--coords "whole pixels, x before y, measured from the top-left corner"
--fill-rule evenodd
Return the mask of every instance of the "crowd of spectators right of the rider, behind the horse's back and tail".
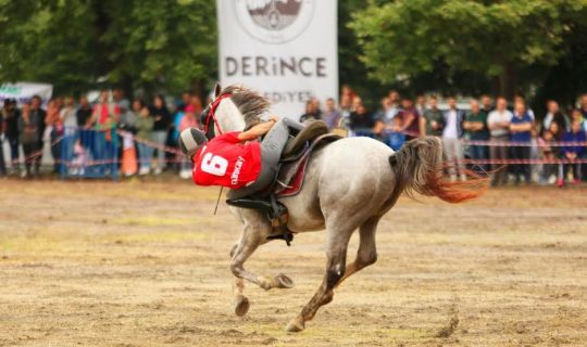
M 440 137 L 451 180 L 465 180 L 470 168 L 490 172 L 492 185 L 538 181 L 562 187 L 578 183 L 587 172 L 587 94 L 578 104 L 563 112 L 550 100 L 537 119 L 522 94 L 511 102 L 482 95 L 460 108 L 454 97 L 445 98 L 440 107 L 436 95 L 420 95 L 414 103 L 392 90 L 372 112 L 345 86 L 338 107 L 328 99 L 323 112 L 312 99 L 300 120 L 323 119 L 335 131 L 371 137 L 396 151 L 416 137 Z

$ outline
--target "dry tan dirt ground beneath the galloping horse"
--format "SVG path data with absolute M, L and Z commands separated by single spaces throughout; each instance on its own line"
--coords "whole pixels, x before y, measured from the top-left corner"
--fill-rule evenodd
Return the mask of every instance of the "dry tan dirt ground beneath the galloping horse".
M 402 198 L 379 260 L 299 334 L 325 233 L 247 264 L 291 290 L 246 287 L 233 313 L 239 224 L 188 182 L 0 181 L 1 346 L 586 346 L 587 189 L 507 188 L 449 205 Z M 357 247 L 353 239 L 349 257 Z

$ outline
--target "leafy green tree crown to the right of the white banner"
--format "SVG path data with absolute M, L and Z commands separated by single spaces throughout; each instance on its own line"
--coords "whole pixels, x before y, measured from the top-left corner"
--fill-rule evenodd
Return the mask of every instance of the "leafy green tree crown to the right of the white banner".
M 511 97 L 516 86 L 541 77 L 528 74 L 533 67 L 553 66 L 565 55 L 564 37 L 586 15 L 586 0 L 371 1 L 350 27 L 370 75 L 382 82 L 444 66 L 448 78 L 495 79 L 497 91 Z

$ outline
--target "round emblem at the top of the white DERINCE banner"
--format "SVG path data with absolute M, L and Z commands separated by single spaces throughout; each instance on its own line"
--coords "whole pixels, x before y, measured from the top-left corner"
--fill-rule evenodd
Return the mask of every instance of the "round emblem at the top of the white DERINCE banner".
M 310 25 L 315 0 L 236 0 L 235 10 L 242 28 L 265 43 L 285 43 Z

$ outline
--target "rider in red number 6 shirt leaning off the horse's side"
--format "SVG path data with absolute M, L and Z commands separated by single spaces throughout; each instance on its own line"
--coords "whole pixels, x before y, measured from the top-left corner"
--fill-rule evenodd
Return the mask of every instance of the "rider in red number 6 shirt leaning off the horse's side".
M 227 132 L 208 141 L 202 131 L 189 128 L 182 131 L 179 147 L 193 162 L 196 184 L 230 188 L 228 203 L 264 209 L 275 218 L 275 204 L 272 206 L 268 194 L 262 193 L 277 175 L 289 134 L 301 129 L 297 121 L 272 116 L 247 131 Z M 255 141 L 263 136 L 261 142 Z

